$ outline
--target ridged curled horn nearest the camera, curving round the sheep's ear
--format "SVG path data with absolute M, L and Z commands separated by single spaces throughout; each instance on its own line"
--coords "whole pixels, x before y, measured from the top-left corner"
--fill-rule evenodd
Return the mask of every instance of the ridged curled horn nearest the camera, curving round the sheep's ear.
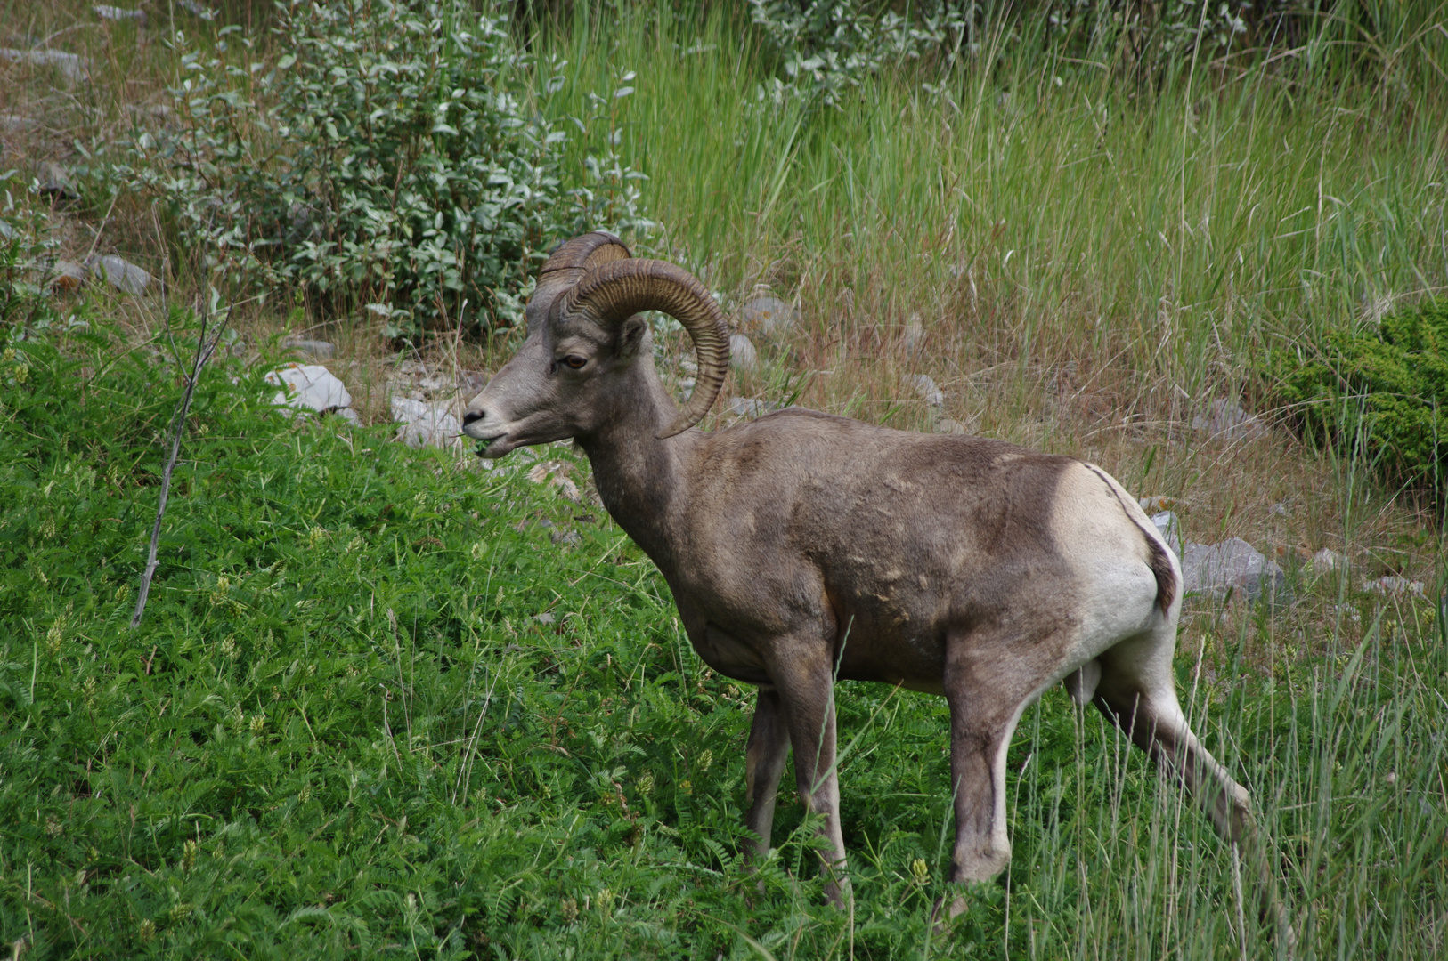
M 589 271 L 563 294 L 560 317 L 589 320 L 617 329 L 641 310 L 659 310 L 678 320 L 694 340 L 699 373 L 694 394 L 659 439 L 682 434 L 704 420 L 724 386 L 728 371 L 728 327 L 704 285 L 683 268 L 663 261 L 614 261 Z

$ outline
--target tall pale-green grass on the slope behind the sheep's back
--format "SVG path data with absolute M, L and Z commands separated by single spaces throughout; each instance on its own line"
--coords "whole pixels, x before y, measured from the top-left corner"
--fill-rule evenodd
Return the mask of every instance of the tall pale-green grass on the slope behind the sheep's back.
M 736 298 L 767 282 L 801 301 L 795 346 L 835 372 L 817 405 L 891 391 L 918 313 L 937 376 L 1034 389 L 1070 363 L 1114 407 L 1182 420 L 1239 391 L 1251 357 L 1448 284 L 1428 87 L 1384 104 L 1371 84 L 1203 65 L 1144 93 L 1109 64 L 1022 58 L 937 93 L 906 64 L 805 113 L 756 100 L 762 54 L 723 17 L 565 36 L 578 90 L 640 71 L 618 120 L 659 249 Z

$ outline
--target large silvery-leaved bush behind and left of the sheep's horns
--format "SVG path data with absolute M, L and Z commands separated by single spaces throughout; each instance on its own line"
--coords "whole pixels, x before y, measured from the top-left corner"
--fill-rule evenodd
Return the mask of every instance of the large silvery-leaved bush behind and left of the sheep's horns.
M 501 7 L 290 0 L 272 26 L 285 52 L 249 64 L 227 51 L 240 27 L 214 52 L 182 38 L 180 126 L 138 133 L 116 174 L 164 198 L 206 266 L 264 289 L 300 282 L 394 334 L 511 320 L 557 239 L 643 221 L 613 132 L 565 175 L 568 133 L 546 116 L 563 65 L 521 51 Z M 607 127 L 631 90 L 594 96 L 576 127 Z

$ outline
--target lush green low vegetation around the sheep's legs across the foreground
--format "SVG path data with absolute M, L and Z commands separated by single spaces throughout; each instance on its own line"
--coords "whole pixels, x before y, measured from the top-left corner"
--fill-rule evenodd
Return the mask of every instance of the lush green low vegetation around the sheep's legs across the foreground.
M 950 938 L 927 923 L 947 714 L 922 695 L 838 695 L 853 910 L 821 903 L 789 802 L 756 893 L 749 692 L 623 534 L 526 459 L 279 417 L 236 362 L 198 392 L 132 631 L 175 366 L 104 333 L 16 350 L 0 934 L 26 957 L 1271 955 L 1205 821 L 1060 692 L 1011 751 L 1015 860 Z M 1183 696 L 1264 810 L 1302 957 L 1441 957 L 1442 619 L 1345 593 L 1363 619 L 1305 657 L 1347 586 L 1295 586 L 1276 614 L 1195 605 Z

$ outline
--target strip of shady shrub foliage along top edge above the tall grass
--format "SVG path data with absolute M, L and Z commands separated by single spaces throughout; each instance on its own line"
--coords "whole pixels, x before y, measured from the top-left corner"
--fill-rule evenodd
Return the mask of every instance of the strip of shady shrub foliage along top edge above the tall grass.
M 1048 64 L 1066 72 L 1087 58 L 1092 67 L 1124 68 L 1137 81 L 1163 82 L 1193 62 L 1228 56 L 1248 62 L 1297 49 L 1306 54 L 1309 69 L 1328 62 L 1341 67 L 1348 58 L 1357 67 L 1377 64 L 1384 80 L 1402 84 L 1405 59 L 1431 77 L 1434 56 L 1444 49 L 1435 36 L 1442 7 L 1432 0 L 750 0 L 750 7 L 754 26 L 779 59 L 782 75 L 759 90 L 762 100 L 776 104 L 796 97 L 811 106 L 840 106 L 867 77 L 911 61 L 946 68 Z M 931 80 L 948 80 L 946 72 Z

